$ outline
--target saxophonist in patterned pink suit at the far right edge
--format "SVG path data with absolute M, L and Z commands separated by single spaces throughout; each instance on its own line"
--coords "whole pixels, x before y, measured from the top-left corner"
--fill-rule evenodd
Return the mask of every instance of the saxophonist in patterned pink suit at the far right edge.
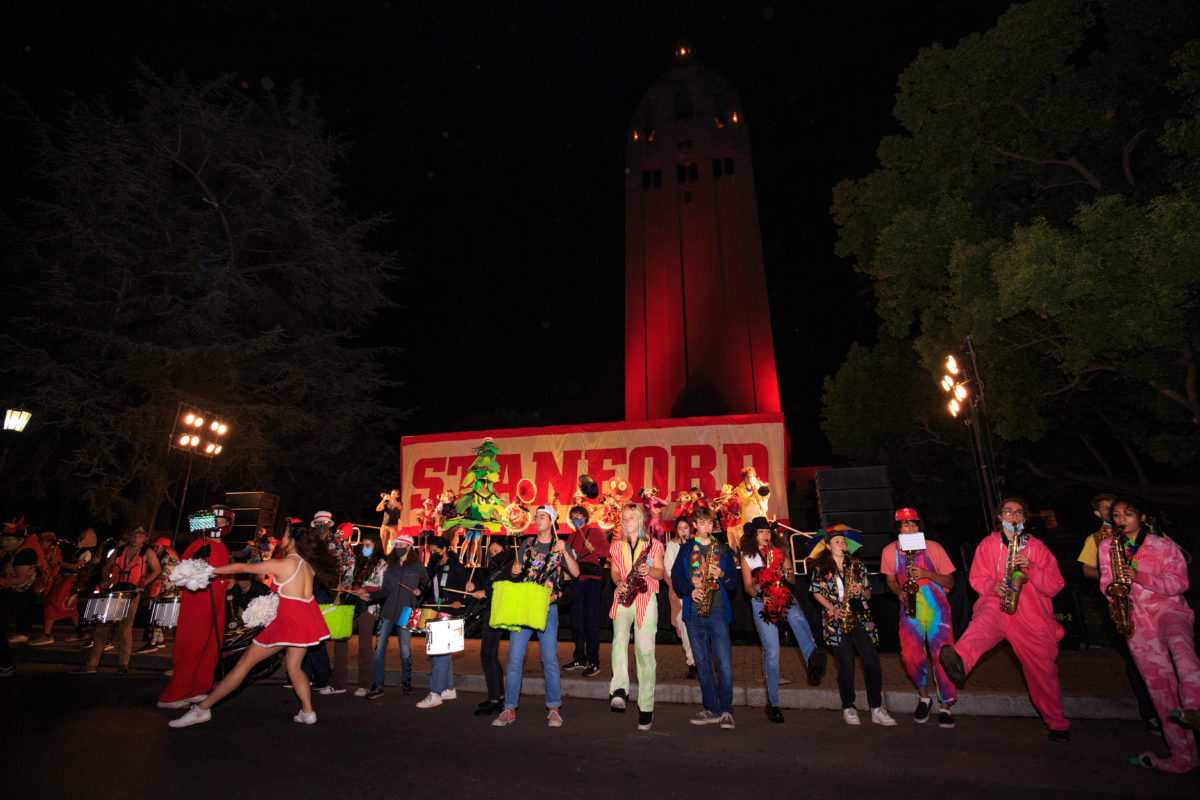
M 1183 708 L 1200 706 L 1200 658 L 1196 658 L 1193 625 L 1195 614 L 1183 600 L 1188 590 L 1188 567 L 1178 545 L 1152 530 L 1141 503 L 1130 498 L 1112 501 L 1115 536 L 1100 542 L 1100 590 L 1117 578 L 1129 583 L 1130 616 L 1134 630 L 1129 652 L 1146 680 L 1150 697 L 1160 720 Z M 1124 548 L 1122 575 L 1112 570 L 1112 548 Z M 1129 760 L 1164 772 L 1188 772 L 1200 766 L 1195 734 L 1178 724 L 1164 724 L 1163 736 L 1170 758 L 1142 753 Z

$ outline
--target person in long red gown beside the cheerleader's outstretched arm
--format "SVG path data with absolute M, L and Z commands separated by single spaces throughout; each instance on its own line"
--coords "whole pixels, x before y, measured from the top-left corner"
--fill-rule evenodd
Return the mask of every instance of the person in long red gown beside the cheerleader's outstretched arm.
M 229 563 L 221 536 L 233 529 L 233 515 L 223 505 L 212 506 L 216 530 L 197 536 L 182 558 L 203 559 L 214 567 Z M 158 696 L 158 708 L 184 709 L 199 703 L 212 687 L 221 645 L 224 643 L 226 581 L 215 577 L 208 589 L 185 589 L 179 599 L 179 625 L 172 648 L 172 675 Z M 221 600 L 217 600 L 217 599 Z

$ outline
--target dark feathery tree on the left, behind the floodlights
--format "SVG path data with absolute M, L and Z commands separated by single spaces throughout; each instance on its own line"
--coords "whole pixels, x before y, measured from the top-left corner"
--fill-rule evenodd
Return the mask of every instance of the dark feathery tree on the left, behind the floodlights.
M 143 73 L 120 110 L 74 98 L 30 128 L 34 197 L 5 219 L 2 391 L 35 422 L 11 495 L 152 524 L 187 402 L 230 426 L 215 487 L 373 497 L 392 415 L 362 333 L 395 265 L 365 243 L 383 217 L 337 197 L 316 101 Z

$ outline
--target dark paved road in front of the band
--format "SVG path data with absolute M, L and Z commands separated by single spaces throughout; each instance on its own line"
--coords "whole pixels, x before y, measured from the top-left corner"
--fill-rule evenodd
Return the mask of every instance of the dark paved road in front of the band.
M 160 675 L 71 676 L 29 667 L 0 681 L 10 738 L 4 795 L 83 798 L 481 796 L 707 798 L 799 792 L 803 798 L 1195 798 L 1200 775 L 1148 772 L 1126 763 L 1162 751 L 1139 722 L 1080 721 L 1069 744 L 1051 744 L 1031 718 L 964 717 L 958 728 L 848 728 L 836 711 L 788 711 L 774 726 L 760 710 L 736 712 L 736 730 L 695 727 L 696 709 L 667 704 L 654 729 L 632 711 L 568 699 L 565 726 L 547 729 L 532 698 L 506 729 L 472 716 L 462 693 L 419 710 L 389 688 L 378 700 L 318 697 L 320 721 L 292 722 L 298 704 L 278 681 L 247 687 L 212 721 L 184 730 L 154 708 Z M 13 733 L 19 733 L 12 738 Z M 904 784 L 931 759 L 935 776 Z M 295 792 L 302 792 L 295 795 Z

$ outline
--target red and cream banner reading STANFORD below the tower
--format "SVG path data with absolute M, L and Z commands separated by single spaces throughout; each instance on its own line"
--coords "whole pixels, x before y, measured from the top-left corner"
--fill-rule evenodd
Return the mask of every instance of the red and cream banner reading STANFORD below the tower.
M 788 518 L 784 415 L 748 414 L 403 437 L 404 525 L 416 524 L 426 498 L 443 489 L 458 493 L 463 470 L 475 459 L 472 449 L 485 437 L 499 447 L 494 488 L 505 501 L 515 499 L 517 482 L 528 477 L 536 488 L 533 505 L 550 503 L 557 492 L 559 505 L 566 506 L 583 474 L 601 491 L 608 479 L 620 476 L 635 493 L 653 486 L 667 500 L 692 487 L 713 497 L 724 483 L 737 486 L 743 468 L 754 467 L 778 489 L 770 495 L 770 513 Z

